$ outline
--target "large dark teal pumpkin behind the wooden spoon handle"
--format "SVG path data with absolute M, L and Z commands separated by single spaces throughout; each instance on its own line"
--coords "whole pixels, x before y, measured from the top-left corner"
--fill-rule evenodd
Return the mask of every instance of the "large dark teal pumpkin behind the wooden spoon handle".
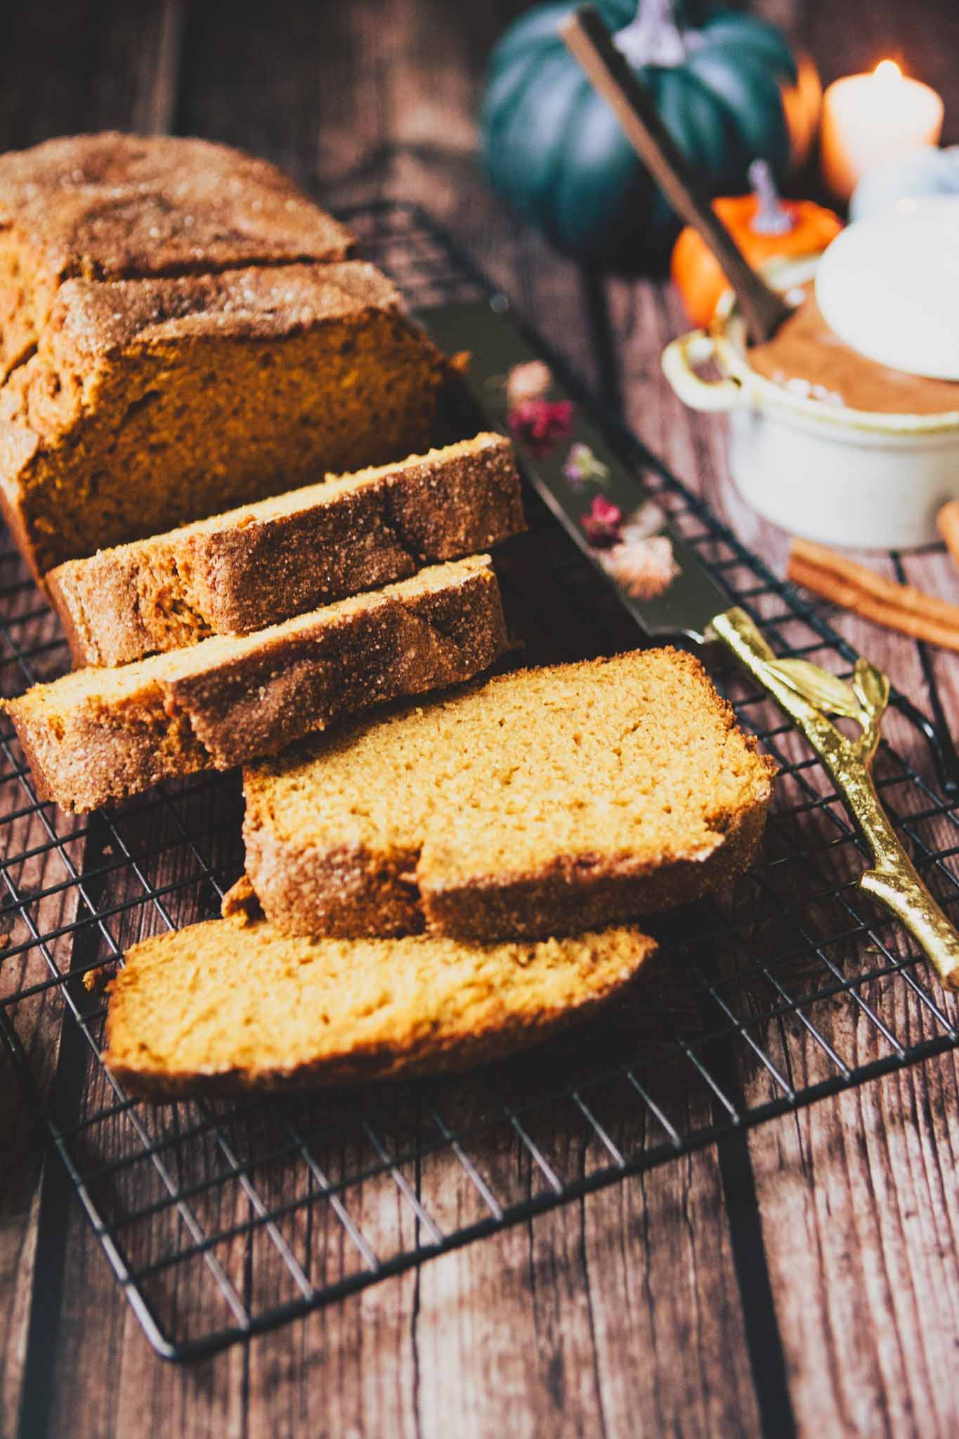
M 614 269 L 663 265 L 679 220 L 559 37 L 569 3 L 536 6 L 496 45 L 480 115 L 496 190 L 559 249 Z M 748 190 L 758 157 L 778 178 L 804 158 L 818 78 L 774 26 L 740 13 L 696 29 L 669 0 L 597 0 L 710 194 Z

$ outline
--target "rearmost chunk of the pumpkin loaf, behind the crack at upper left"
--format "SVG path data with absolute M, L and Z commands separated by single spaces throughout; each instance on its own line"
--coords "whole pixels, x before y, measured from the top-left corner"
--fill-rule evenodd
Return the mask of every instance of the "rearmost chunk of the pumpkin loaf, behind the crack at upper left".
M 354 239 L 275 165 L 208 140 L 65 135 L 0 155 L 0 381 L 65 279 L 344 260 Z

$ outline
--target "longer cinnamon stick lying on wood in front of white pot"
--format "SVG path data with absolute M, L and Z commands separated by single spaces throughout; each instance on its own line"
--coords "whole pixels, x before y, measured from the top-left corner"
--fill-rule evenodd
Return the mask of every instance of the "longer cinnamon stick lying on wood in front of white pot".
M 809 540 L 794 540 L 786 578 L 887 629 L 959 650 L 959 604 L 896 584 Z

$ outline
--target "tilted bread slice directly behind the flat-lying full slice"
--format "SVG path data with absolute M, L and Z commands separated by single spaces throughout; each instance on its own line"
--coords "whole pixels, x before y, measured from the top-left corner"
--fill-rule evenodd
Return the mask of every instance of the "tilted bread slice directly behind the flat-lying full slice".
M 506 642 L 487 555 L 242 637 L 78 669 L 4 702 L 42 799 L 91 810 L 226 770 L 382 699 L 486 669 Z

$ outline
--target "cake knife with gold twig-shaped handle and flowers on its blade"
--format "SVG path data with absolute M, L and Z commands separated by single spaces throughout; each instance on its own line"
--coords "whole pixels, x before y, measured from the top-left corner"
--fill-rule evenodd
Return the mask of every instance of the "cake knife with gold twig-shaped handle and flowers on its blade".
M 903 922 L 943 984 L 959 990 L 959 932 L 919 878 L 870 773 L 889 704 L 890 685 L 883 671 L 867 659 L 857 659 L 847 684 L 808 661 L 776 658 L 749 614 L 739 606 L 730 607 L 729 594 L 670 527 L 656 501 L 644 494 L 637 475 L 618 459 L 598 426 L 571 400 L 555 376 L 548 393 L 554 401 L 571 403 L 568 432 L 549 448 L 532 443 L 528 435 L 515 429 L 510 432 L 508 377 L 516 366 L 541 361 L 542 355 L 526 340 L 503 295 L 440 305 L 421 311 L 418 318 L 447 354 L 469 347 L 464 383 L 470 397 L 495 429 L 512 433 L 528 479 L 579 550 L 612 584 L 640 629 L 656 639 L 682 636 L 700 646 L 725 646 L 795 721 L 832 777 L 871 852 L 873 863 L 860 875 L 858 888 Z M 641 568 L 637 578 L 634 567 L 618 563 L 623 551 L 589 543 L 584 515 L 597 494 L 623 517 L 637 514 L 640 499 L 641 538 L 660 541 L 660 561 L 663 550 L 669 554 L 671 547 L 666 576 L 660 563 L 651 580 Z M 610 540 L 610 535 L 601 538 Z M 664 547 L 663 541 L 669 544 Z M 641 545 L 638 548 L 641 554 Z M 661 593 L 650 593 L 657 586 Z M 855 721 L 858 735 L 843 734 L 830 715 Z

